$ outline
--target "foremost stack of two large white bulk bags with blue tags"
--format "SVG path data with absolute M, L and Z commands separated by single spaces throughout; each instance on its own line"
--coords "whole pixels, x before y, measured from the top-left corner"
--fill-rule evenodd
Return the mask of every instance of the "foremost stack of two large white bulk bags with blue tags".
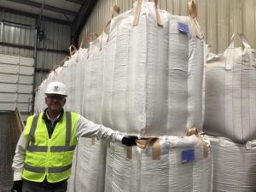
M 102 123 L 159 137 L 160 160 L 152 160 L 151 147 L 133 147 L 129 160 L 124 145 L 110 143 L 105 191 L 212 191 L 211 155 L 203 156 L 197 137 L 182 137 L 202 127 L 204 40 L 192 21 L 137 1 L 113 18 L 107 48 Z M 193 150 L 195 160 L 182 163 L 183 151 Z

